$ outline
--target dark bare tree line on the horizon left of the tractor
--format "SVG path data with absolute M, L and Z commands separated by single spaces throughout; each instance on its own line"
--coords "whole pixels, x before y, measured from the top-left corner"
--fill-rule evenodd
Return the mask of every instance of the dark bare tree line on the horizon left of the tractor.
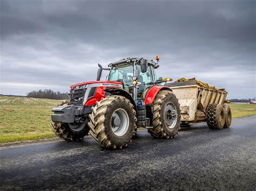
M 29 93 L 26 93 L 26 97 L 47 98 L 53 100 L 68 100 L 69 93 L 60 93 L 59 91 L 55 92 L 51 89 L 39 89 L 38 91 L 31 91 Z

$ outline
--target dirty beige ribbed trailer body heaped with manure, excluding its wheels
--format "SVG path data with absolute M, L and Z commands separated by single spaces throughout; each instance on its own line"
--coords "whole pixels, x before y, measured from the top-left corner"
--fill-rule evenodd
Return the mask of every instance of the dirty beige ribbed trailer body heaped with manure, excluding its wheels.
M 199 86 L 196 80 L 166 83 L 179 100 L 181 124 L 205 122 L 207 107 L 212 103 L 223 105 L 227 96 L 225 89 L 213 90 Z

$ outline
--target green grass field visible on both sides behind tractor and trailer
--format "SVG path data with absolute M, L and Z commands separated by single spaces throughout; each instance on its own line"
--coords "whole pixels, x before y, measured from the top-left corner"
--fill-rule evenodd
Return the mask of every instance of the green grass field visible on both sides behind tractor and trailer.
M 56 137 L 51 109 L 63 100 L 0 96 L 0 143 Z M 229 104 L 233 117 L 256 115 L 256 105 Z

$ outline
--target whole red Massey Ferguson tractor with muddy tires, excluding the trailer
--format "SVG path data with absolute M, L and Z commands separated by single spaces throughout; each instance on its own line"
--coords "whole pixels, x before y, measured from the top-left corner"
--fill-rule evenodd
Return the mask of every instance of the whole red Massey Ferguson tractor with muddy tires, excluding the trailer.
M 90 135 L 106 148 L 123 148 L 132 142 L 139 127 L 158 138 L 176 137 L 180 105 L 172 90 L 157 80 L 157 62 L 126 58 L 99 65 L 97 81 L 71 86 L 70 100 L 53 108 L 52 129 L 59 138 L 79 140 Z M 110 70 L 100 81 L 102 70 Z

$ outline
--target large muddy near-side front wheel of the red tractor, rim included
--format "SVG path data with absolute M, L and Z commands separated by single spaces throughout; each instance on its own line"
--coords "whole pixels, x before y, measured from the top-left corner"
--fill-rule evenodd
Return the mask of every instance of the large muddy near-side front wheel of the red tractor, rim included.
M 124 148 L 131 144 L 136 129 L 136 111 L 124 96 L 112 95 L 96 102 L 88 123 L 96 143 L 110 148 Z

